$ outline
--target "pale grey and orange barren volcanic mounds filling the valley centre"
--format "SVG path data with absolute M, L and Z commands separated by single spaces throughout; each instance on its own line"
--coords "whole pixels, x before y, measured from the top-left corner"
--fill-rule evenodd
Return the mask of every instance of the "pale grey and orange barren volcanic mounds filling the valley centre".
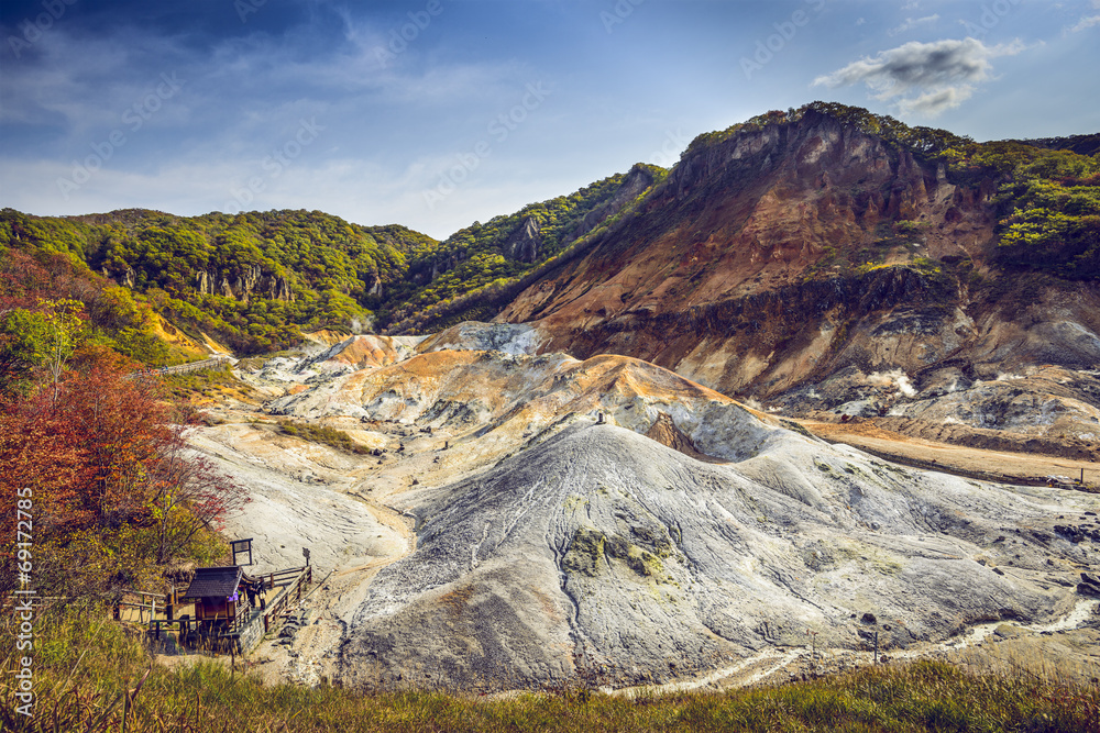
M 468 336 L 524 352 L 530 335 L 492 331 Z M 271 409 L 387 451 L 326 458 L 323 490 L 415 518 L 416 552 L 373 579 L 346 575 L 363 560 L 339 559 L 340 534 L 312 537 L 337 545 L 322 556 L 344 600 L 322 619 L 339 656 L 308 648 L 351 685 L 664 681 L 800 648 L 807 631 L 833 648 L 871 631 L 921 646 L 1059 618 L 1094 553 L 1090 495 L 900 468 L 628 357 L 444 349 L 311 381 Z M 353 554 L 381 559 L 388 537 Z

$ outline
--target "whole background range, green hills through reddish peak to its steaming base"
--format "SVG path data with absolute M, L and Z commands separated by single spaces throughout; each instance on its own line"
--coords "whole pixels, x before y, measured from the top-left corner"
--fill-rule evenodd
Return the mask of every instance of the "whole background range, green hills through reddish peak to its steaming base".
M 226 251 L 212 267 L 178 218 L 123 211 L 79 218 L 114 229 L 64 245 L 142 289 L 142 263 L 163 262 L 150 243 L 176 237 L 196 264 L 157 282 L 217 313 L 157 297 L 234 347 L 287 345 L 288 319 L 391 335 L 527 323 L 543 351 L 632 356 L 788 414 L 1100 457 L 1100 169 L 1071 152 L 1096 137 L 978 144 L 815 102 L 444 242 L 210 215 L 193 223 Z M 11 241 L 42 236 L 9 214 Z

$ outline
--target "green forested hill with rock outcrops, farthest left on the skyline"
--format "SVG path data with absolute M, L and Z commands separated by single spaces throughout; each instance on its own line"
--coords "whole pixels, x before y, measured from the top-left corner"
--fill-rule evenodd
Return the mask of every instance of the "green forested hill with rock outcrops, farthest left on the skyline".
M 0 212 L 0 243 L 69 255 L 143 293 L 169 320 L 242 352 L 277 349 L 300 329 L 369 327 L 372 284 L 399 281 L 437 242 L 319 212 L 173 216 L 156 211 L 38 218 Z

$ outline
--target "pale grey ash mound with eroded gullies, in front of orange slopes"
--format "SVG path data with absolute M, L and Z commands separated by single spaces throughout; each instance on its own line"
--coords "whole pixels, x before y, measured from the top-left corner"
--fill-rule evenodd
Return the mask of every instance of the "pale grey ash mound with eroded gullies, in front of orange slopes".
M 350 685 L 666 681 L 802 645 L 807 630 L 856 647 L 853 614 L 866 612 L 891 624 L 891 646 L 1049 619 L 1072 604 L 1085 559 L 1050 527 L 1100 507 L 785 430 L 761 431 L 748 460 L 711 464 L 584 423 L 400 500 L 418 549 L 375 577 L 352 618 Z

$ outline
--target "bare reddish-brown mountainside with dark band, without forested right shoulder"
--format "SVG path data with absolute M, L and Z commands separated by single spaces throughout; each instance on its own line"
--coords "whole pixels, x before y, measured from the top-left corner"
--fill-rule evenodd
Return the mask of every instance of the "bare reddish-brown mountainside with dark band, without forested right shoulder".
M 785 401 L 800 411 L 845 370 L 867 392 L 871 375 L 941 363 L 987 379 L 1094 368 L 1100 287 L 993 267 L 994 190 L 811 111 L 690 151 L 642 213 L 497 320 L 532 323 L 548 351 L 626 354 L 727 395 L 802 389 Z

